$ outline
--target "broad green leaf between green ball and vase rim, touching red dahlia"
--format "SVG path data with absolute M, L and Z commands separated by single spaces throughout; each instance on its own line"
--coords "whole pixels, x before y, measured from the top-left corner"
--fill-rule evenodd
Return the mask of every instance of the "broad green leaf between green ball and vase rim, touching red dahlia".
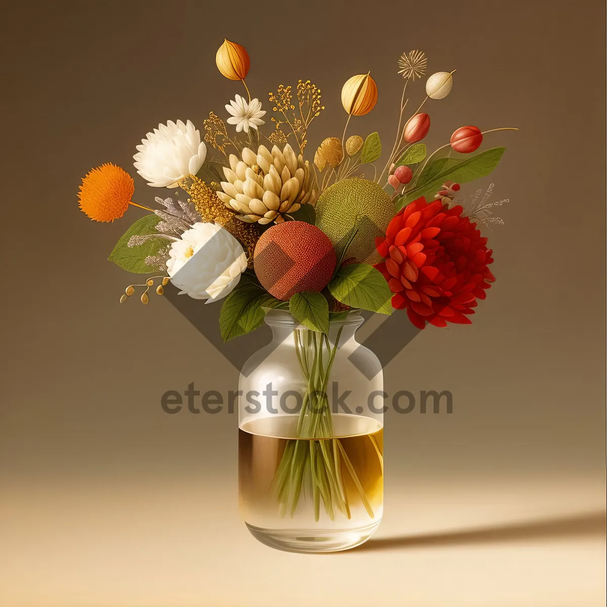
M 349 263 L 339 268 L 328 284 L 331 295 L 352 308 L 392 314 L 392 293 L 382 274 L 366 263 Z

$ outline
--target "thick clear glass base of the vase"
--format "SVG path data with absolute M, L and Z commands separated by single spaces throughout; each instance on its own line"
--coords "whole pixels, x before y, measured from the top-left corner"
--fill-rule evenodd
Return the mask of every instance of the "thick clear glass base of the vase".
M 381 519 L 355 529 L 262 529 L 246 523 L 256 540 L 285 552 L 339 552 L 360 546 L 375 533 Z

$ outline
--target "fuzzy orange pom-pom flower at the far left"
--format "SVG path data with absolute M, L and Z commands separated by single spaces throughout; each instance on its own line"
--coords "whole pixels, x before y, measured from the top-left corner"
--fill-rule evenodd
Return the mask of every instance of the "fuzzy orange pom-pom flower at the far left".
M 79 206 L 96 222 L 113 222 L 124 215 L 129 204 L 134 204 L 131 202 L 134 192 L 131 175 L 115 164 L 102 164 L 83 178 L 78 192 Z

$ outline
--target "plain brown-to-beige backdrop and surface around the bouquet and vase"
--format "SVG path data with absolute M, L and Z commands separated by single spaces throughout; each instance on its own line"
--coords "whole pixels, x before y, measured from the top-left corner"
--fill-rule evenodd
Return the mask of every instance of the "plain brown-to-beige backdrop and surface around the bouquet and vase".
M 605 602 L 605 8 L 580 2 L 13 2 L 2 17 L 0 604 L 599 606 Z M 93 224 L 80 178 L 159 122 L 298 78 L 339 135 L 342 83 L 371 70 L 351 132 L 393 137 L 396 59 L 457 69 L 429 144 L 518 126 L 484 180 L 509 198 L 498 280 L 471 327 L 424 331 L 386 390 L 451 390 L 453 415 L 388 413 L 376 538 L 327 557 L 272 551 L 239 521 L 236 416 L 160 409 L 237 372 L 169 302 L 118 297 L 106 261 L 139 215 Z M 412 104 L 421 97 L 416 89 Z M 154 191 L 135 177 L 135 200 Z

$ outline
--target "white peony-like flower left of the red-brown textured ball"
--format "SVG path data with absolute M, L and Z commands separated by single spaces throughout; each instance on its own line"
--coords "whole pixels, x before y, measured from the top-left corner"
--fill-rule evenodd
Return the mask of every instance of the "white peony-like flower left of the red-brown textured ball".
M 222 299 L 246 270 L 242 246 L 219 223 L 197 222 L 171 245 L 167 272 L 181 294 L 207 303 Z

